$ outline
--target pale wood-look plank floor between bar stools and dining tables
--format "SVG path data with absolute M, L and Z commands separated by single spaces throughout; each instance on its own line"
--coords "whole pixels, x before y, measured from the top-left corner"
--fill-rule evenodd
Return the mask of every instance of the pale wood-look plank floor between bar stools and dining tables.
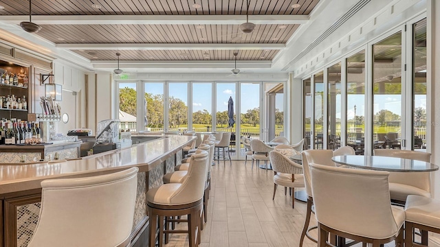
M 272 170 L 251 169 L 250 162 L 246 166 L 244 161 L 212 166 L 208 222 L 201 231 L 199 246 L 298 247 L 306 203 L 296 200 L 292 209 L 292 199 L 289 193 L 284 195 L 284 187 L 278 187 L 272 200 L 273 178 Z M 316 225 L 314 215 L 310 225 Z M 186 224 L 177 225 L 181 227 L 186 228 Z M 188 235 L 170 235 L 170 242 L 164 246 L 188 246 Z M 303 246 L 316 244 L 306 237 Z

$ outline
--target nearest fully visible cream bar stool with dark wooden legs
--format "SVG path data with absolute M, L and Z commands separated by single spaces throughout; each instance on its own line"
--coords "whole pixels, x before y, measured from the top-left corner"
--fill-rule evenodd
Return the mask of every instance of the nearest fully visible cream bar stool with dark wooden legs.
M 161 185 L 146 193 L 150 217 L 149 247 L 155 247 L 157 224 L 159 225 L 159 246 L 162 246 L 163 234 L 169 233 L 188 233 L 189 246 L 197 246 L 197 242 L 200 241 L 200 215 L 203 208 L 208 158 L 208 152 L 197 150 L 197 153 L 191 156 L 188 178 L 183 183 Z M 164 231 L 164 217 L 180 215 L 188 215 L 188 231 Z

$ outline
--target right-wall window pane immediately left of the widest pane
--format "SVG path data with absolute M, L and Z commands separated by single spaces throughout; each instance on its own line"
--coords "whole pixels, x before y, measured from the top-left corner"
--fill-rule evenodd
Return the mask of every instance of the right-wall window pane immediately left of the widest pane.
M 347 145 L 364 154 L 365 51 L 347 58 Z

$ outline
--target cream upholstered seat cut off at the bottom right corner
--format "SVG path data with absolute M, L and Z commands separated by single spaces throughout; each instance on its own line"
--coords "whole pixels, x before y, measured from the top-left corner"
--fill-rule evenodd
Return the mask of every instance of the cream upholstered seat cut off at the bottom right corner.
M 408 196 L 405 204 L 405 247 L 415 245 L 414 229 L 421 231 L 421 243 L 428 246 L 428 232 L 440 233 L 440 200 Z M 419 246 L 419 244 L 416 244 Z

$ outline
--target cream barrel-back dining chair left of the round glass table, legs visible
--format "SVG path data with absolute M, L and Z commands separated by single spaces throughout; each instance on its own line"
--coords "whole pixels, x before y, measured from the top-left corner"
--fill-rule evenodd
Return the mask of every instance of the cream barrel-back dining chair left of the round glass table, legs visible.
M 292 188 L 304 187 L 303 166 L 291 161 L 289 157 L 281 154 L 281 152 L 271 151 L 269 153 L 270 164 L 274 171 L 274 196 L 275 199 L 276 187 L 278 185 Z M 295 196 L 292 195 L 292 209 L 295 208 Z

